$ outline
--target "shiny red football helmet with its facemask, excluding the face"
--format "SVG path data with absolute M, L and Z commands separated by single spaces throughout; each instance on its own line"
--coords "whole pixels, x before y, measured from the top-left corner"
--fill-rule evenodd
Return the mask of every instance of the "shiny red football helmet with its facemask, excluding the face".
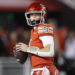
M 32 14 L 32 13 L 40 13 L 41 14 L 41 18 L 40 18 L 40 21 L 39 22 L 36 22 L 36 23 L 32 23 L 30 21 L 30 18 L 29 18 L 29 15 Z M 40 4 L 40 3 L 32 3 L 26 10 L 26 13 L 25 13 L 25 17 L 26 17 L 26 20 L 27 20 L 27 23 L 28 25 L 30 26 L 35 26 L 35 25 L 39 25 L 41 23 L 44 23 L 45 21 L 45 16 L 46 16 L 46 8 L 44 5 Z

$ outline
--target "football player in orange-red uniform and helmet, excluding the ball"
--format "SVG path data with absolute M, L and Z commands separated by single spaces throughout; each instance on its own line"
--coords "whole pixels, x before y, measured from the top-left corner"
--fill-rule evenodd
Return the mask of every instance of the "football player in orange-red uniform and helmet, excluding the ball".
M 59 75 L 54 62 L 54 29 L 46 24 L 46 7 L 40 3 L 32 3 L 25 12 L 29 26 L 33 26 L 29 46 L 16 44 L 17 51 L 31 53 L 31 75 Z

